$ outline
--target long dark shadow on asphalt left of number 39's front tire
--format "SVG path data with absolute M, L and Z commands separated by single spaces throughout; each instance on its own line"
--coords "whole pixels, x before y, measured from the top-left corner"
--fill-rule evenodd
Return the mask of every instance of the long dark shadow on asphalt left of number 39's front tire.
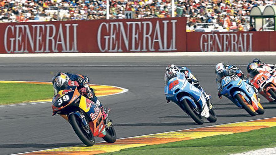
M 26 143 L 26 144 L 0 144 L 0 148 L 54 148 L 54 147 L 68 147 L 75 145 L 82 145 L 83 143 L 54 143 L 54 144 L 37 144 L 37 143 Z

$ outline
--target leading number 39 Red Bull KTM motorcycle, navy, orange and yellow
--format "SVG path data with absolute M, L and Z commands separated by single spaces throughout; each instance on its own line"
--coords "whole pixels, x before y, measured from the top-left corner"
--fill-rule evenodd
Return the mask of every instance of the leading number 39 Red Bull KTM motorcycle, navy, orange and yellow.
M 79 93 L 74 81 L 68 83 L 67 88 L 60 90 L 52 100 L 53 116 L 59 114 L 66 119 L 87 146 L 95 144 L 95 136 L 114 143 L 117 137 L 112 121 L 104 120 L 100 108 Z

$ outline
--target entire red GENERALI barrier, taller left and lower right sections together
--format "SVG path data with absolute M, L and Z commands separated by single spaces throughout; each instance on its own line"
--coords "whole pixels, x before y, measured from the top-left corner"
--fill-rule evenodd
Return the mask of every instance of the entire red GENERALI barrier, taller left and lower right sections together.
M 276 51 L 276 32 L 186 32 L 186 18 L 0 23 L 0 53 Z

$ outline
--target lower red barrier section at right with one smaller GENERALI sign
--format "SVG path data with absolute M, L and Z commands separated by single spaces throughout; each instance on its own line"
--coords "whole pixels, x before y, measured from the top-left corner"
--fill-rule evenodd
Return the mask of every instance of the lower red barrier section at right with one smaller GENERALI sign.
M 276 51 L 275 41 L 275 32 L 193 32 L 187 33 L 187 51 Z

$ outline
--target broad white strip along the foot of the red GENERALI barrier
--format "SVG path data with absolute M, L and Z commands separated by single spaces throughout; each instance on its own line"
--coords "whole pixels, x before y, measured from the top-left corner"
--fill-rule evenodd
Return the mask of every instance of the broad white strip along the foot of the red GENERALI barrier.
M 276 55 L 276 52 L 137 52 L 137 53 L 13 53 L 0 57 L 121 57 L 121 56 L 256 56 Z

